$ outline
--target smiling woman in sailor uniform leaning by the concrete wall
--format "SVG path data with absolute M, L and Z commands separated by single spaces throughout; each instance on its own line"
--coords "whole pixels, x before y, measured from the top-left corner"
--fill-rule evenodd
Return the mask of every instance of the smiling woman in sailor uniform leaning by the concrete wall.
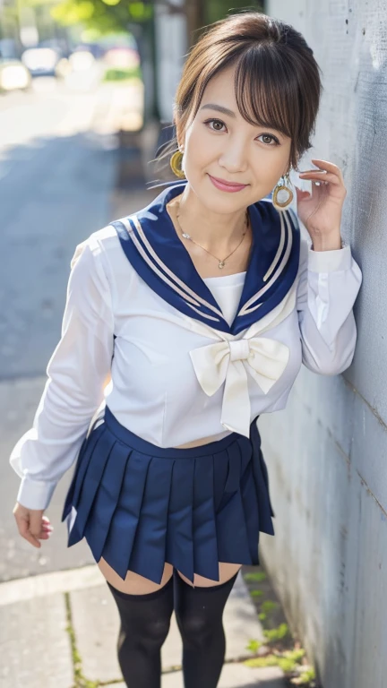
M 361 272 L 341 243 L 340 168 L 299 175 L 315 182 L 297 189 L 313 246 L 287 210 L 320 93 L 290 26 L 261 13 L 212 25 L 176 92 L 180 180 L 74 255 L 47 386 L 13 450 L 14 515 L 40 546 L 78 456 L 69 545 L 87 539 L 116 599 L 133 688 L 159 686 L 174 606 L 185 688 L 218 684 L 223 608 L 241 565 L 259 563 L 260 531 L 274 534 L 256 419 L 285 407 L 302 362 L 339 374 L 352 361 Z

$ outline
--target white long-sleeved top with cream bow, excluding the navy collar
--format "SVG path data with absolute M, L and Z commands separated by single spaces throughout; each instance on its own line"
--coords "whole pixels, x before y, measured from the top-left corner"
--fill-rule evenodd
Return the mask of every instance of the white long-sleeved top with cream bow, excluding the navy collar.
M 204 280 L 228 323 L 244 280 L 245 273 Z M 287 297 L 233 336 L 152 290 L 133 270 L 114 227 L 95 232 L 75 252 L 62 337 L 33 427 L 11 455 L 22 477 L 18 501 L 47 508 L 104 400 L 123 426 L 160 447 L 233 430 L 248 434 L 254 417 L 285 408 L 302 363 L 318 374 L 340 374 L 350 365 L 361 280 L 348 245 L 314 252 L 302 239 Z

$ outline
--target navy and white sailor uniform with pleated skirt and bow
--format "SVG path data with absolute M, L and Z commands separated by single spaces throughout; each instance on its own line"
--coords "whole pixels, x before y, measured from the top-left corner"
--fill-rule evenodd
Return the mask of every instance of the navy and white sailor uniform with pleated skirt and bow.
M 302 363 L 350 365 L 362 279 L 349 246 L 312 251 L 296 214 L 263 199 L 247 271 L 203 280 L 166 208 L 185 184 L 77 247 L 46 388 L 11 456 L 31 509 L 78 458 L 69 545 L 85 537 L 122 578 L 157 583 L 165 562 L 191 581 L 259 563 L 274 512 L 256 419 L 285 408 Z

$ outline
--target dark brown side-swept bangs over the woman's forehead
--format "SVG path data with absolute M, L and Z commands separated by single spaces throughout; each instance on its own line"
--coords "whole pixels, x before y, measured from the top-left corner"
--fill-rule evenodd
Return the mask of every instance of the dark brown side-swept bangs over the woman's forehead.
M 300 94 L 294 66 L 272 45 L 249 47 L 236 60 L 235 93 L 240 114 L 251 125 L 297 139 Z

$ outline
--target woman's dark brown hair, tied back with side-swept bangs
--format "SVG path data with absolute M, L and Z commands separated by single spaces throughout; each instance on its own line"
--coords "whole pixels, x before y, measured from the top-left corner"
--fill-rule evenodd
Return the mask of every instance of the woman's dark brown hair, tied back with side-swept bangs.
M 289 136 L 289 163 L 297 169 L 298 159 L 312 146 L 321 70 L 297 30 L 258 12 L 232 14 L 211 24 L 191 48 L 174 102 L 177 136 L 164 155 L 176 150 L 211 78 L 234 65 L 239 112 L 250 124 Z

